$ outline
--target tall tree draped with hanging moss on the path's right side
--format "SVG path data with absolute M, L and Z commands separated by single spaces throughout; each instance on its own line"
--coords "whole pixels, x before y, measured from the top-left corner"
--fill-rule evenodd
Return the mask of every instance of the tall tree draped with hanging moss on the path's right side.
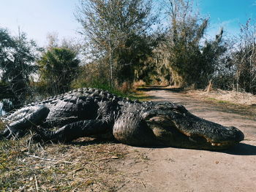
M 219 56 L 225 52 L 221 45 L 223 31 L 213 41 L 203 44 L 208 18 L 200 18 L 193 11 L 192 1 L 166 2 L 170 27 L 158 53 L 164 54 L 163 65 L 170 70 L 170 83 L 203 87 L 212 78 Z

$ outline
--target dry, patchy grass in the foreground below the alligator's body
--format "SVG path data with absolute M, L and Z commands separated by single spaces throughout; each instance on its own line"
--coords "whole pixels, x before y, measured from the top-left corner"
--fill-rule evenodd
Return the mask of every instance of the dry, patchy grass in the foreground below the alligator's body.
M 90 138 L 40 145 L 30 138 L 0 141 L 0 191 L 118 191 L 130 182 L 120 169 L 126 145 Z M 133 157 L 146 161 L 136 151 Z

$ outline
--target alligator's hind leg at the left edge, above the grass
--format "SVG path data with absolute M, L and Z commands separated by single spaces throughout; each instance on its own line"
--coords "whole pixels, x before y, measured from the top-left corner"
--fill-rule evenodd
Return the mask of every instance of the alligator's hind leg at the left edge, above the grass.
M 7 128 L 0 134 L 0 139 L 1 137 L 6 139 L 23 137 L 26 134 L 27 128 L 42 123 L 48 116 L 49 111 L 48 107 L 37 105 L 24 107 L 14 112 L 8 119 L 3 119 Z

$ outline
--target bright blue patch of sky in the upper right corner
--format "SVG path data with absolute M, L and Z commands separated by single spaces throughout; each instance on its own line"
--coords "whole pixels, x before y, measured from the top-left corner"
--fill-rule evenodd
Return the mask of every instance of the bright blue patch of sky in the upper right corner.
M 210 17 L 208 34 L 216 34 L 220 27 L 225 34 L 235 35 L 240 31 L 241 24 L 248 18 L 256 19 L 255 0 L 197 0 L 200 13 Z

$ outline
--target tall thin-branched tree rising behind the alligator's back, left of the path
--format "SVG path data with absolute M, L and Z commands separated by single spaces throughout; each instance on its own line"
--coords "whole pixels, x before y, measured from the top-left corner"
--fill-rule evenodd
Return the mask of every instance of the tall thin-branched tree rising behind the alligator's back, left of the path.
M 111 85 L 134 80 L 140 37 L 155 21 L 150 13 L 151 0 L 80 1 L 77 19 L 88 43 L 89 61 L 109 66 L 106 78 Z

